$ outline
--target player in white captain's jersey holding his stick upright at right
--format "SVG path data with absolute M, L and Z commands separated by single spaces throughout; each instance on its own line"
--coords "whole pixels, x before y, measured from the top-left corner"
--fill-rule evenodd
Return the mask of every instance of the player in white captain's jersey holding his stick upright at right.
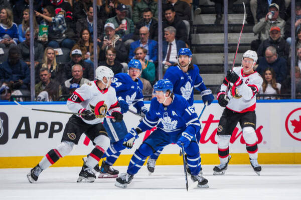
M 226 107 L 220 118 L 218 135 L 218 155 L 220 164 L 213 168 L 214 175 L 225 173 L 231 155 L 229 155 L 230 137 L 237 123 L 240 123 L 242 135 L 246 142 L 246 149 L 249 153 L 250 163 L 254 171 L 259 175 L 261 166 L 258 164 L 258 147 L 256 129 L 256 93 L 263 80 L 253 67 L 257 61 L 257 53 L 247 50 L 242 57 L 242 66 L 234 67 L 228 71 L 221 90 L 217 94 L 218 103 Z M 230 89 L 227 91 L 228 82 Z

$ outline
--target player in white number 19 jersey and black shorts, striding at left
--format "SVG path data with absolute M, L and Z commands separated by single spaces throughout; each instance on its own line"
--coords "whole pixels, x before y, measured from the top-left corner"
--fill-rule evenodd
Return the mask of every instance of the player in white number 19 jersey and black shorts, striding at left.
M 83 84 L 67 100 L 67 106 L 72 112 L 85 115 L 72 115 L 69 118 L 61 143 L 56 148 L 51 149 L 27 174 L 31 183 L 38 180 L 39 174 L 43 170 L 69 154 L 74 144 L 78 144 L 82 133 L 85 133 L 93 141 L 95 148 L 84 163 L 77 182 L 93 182 L 95 180 L 93 167 L 110 145 L 110 139 L 102 125 L 103 119 L 107 112 L 114 117 L 115 121 L 121 121 L 123 117 L 115 89 L 110 87 L 114 75 L 113 71 L 106 66 L 99 66 L 95 73 L 97 80 Z

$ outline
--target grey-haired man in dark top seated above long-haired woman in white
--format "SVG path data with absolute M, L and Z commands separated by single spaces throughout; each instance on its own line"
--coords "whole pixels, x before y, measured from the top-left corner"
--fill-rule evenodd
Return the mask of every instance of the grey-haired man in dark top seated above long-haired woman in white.
M 281 83 L 286 77 L 286 60 L 283 57 L 278 56 L 276 48 L 269 46 L 265 50 L 265 57 L 258 59 L 258 66 L 256 71 L 262 74 L 264 69 L 271 67 L 275 71 L 276 82 Z

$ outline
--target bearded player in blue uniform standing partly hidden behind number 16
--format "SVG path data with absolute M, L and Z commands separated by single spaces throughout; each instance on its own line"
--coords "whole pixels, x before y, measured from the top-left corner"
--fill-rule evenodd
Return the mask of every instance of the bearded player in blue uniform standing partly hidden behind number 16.
M 206 88 L 203 78 L 200 76 L 199 67 L 191 63 L 192 52 L 189 48 L 181 48 L 178 52 L 178 64 L 167 69 L 164 78 L 169 79 L 174 85 L 174 93 L 182 95 L 188 104 L 193 106 L 193 89 L 196 88 L 201 91 L 203 102 L 208 105 L 214 99 L 210 89 Z M 200 133 L 197 135 L 200 141 Z M 155 170 L 156 160 L 158 159 L 163 148 L 158 149 L 154 154 L 147 159 L 147 169 L 149 173 Z M 188 170 L 189 171 L 189 170 Z

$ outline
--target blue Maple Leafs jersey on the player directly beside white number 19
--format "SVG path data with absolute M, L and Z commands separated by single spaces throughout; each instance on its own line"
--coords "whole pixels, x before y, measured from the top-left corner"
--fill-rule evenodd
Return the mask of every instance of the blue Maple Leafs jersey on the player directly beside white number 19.
M 118 99 L 121 97 L 128 105 L 132 104 L 137 112 L 140 112 L 144 103 L 143 84 L 139 78 L 133 81 L 127 73 L 117 73 L 114 75 L 111 86 L 115 88 Z

